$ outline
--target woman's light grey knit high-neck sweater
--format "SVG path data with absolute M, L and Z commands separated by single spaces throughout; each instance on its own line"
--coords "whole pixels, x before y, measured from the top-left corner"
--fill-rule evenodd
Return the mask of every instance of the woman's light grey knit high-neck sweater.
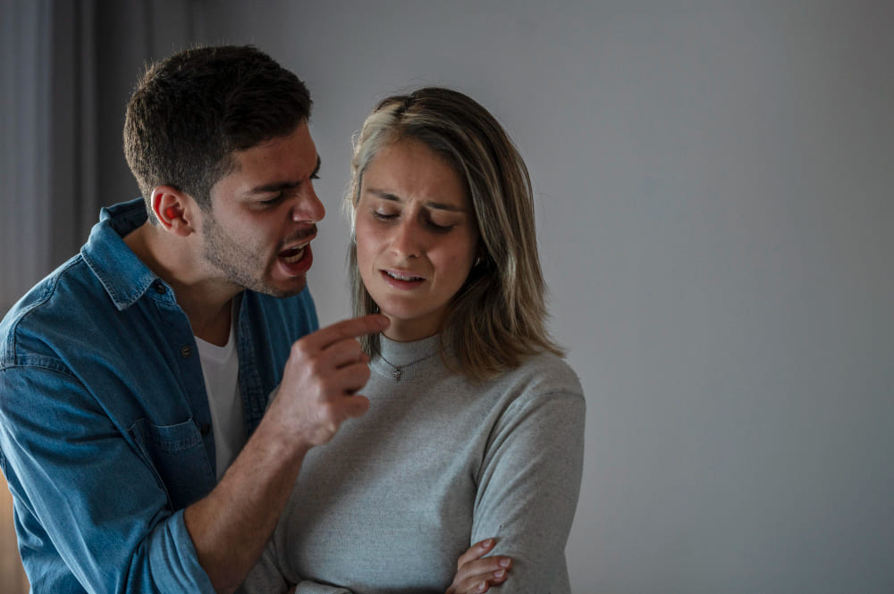
M 400 379 L 394 366 L 401 367 Z M 310 451 L 244 594 L 416 594 L 450 586 L 493 537 L 514 559 L 502 592 L 567 594 L 585 404 L 556 356 L 484 383 L 449 372 L 437 337 L 382 339 L 369 412 Z

